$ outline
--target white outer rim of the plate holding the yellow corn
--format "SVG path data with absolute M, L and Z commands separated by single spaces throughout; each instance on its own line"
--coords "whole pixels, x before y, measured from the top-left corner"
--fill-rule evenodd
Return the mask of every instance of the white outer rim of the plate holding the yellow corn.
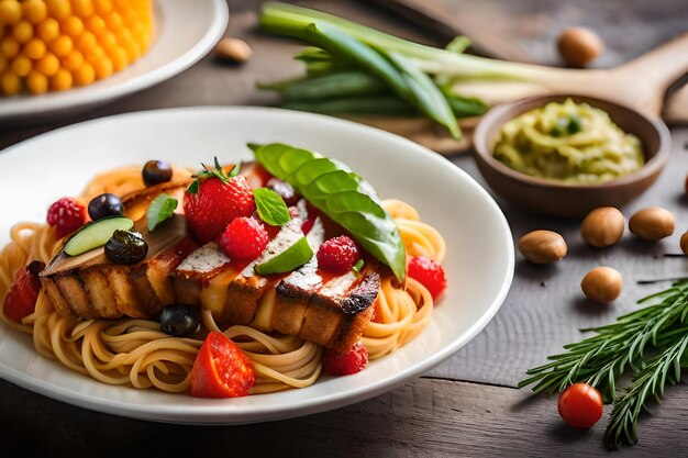
M 165 14 L 165 0 L 154 0 L 154 9 L 159 9 L 162 15 Z M 99 88 L 96 91 L 60 93 L 57 98 L 44 99 L 42 103 L 10 103 L 3 108 L 0 104 L 0 125 L 11 126 L 14 123 L 33 124 L 36 121 L 52 119 L 60 113 L 78 113 L 89 110 L 96 104 L 110 103 L 122 97 L 134 94 L 141 90 L 159 85 L 176 75 L 189 69 L 193 64 L 202 59 L 224 34 L 229 19 L 230 9 L 224 0 L 208 0 L 208 4 L 213 8 L 212 22 L 206 33 L 191 47 L 186 49 L 177 58 L 149 70 L 143 75 L 130 78 L 115 86 Z M 155 46 L 155 43 L 154 43 Z M 145 59 L 142 56 L 136 63 Z M 136 64 L 134 63 L 134 64 Z M 87 87 L 88 88 L 88 87 Z M 27 97 L 27 96 L 24 96 Z

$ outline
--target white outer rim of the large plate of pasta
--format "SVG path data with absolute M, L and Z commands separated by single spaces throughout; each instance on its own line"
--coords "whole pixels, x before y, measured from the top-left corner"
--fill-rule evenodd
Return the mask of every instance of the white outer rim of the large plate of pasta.
M 504 235 L 504 241 L 509 249 L 507 249 L 506 261 L 507 269 L 504 271 L 504 278 L 500 279 L 500 288 L 499 291 L 496 292 L 495 299 L 486 309 L 486 311 L 476 320 L 470 327 L 464 332 L 459 338 L 452 339 L 446 346 L 440 348 L 436 353 L 429 355 L 423 358 L 421 361 L 415 365 L 411 365 L 409 367 L 404 367 L 401 370 L 395 372 L 392 376 L 385 378 L 382 380 L 374 381 L 373 383 L 360 384 L 351 390 L 335 391 L 328 395 L 317 396 L 314 399 L 307 399 L 300 401 L 296 405 L 289 406 L 280 406 L 279 409 L 270 407 L 269 405 L 260 405 L 260 406 L 246 406 L 246 407 L 236 407 L 231 410 L 221 409 L 223 405 L 221 402 L 218 404 L 213 404 L 213 406 L 209 407 L 208 405 L 156 405 L 155 412 L 148 411 L 147 405 L 141 405 L 133 402 L 122 402 L 118 400 L 111 400 L 108 398 L 96 396 L 87 393 L 82 393 L 76 390 L 68 390 L 62 386 L 54 386 L 48 383 L 47 381 L 31 378 L 22 378 L 21 371 L 8 367 L 3 364 L 0 364 L 0 378 L 3 378 L 12 383 L 15 383 L 22 388 L 29 389 L 36 393 L 46 395 L 48 398 L 53 398 L 63 402 L 66 402 L 71 405 L 77 405 L 80 407 L 85 407 L 91 411 L 98 411 L 109 414 L 115 414 L 120 416 L 138 418 L 138 420 L 147 420 L 155 421 L 160 423 L 174 423 L 174 424 L 189 424 L 189 425 L 200 425 L 200 424 L 217 424 L 217 425 L 232 425 L 232 424 L 249 424 L 249 423 L 258 423 L 266 421 L 275 421 L 275 420 L 284 420 L 289 417 L 297 417 L 309 415 L 313 413 L 319 413 L 323 411 L 329 411 L 333 409 L 337 409 L 344 405 L 349 405 L 356 402 L 360 402 L 367 400 L 369 398 L 379 395 L 384 392 L 391 391 L 393 388 L 414 379 L 433 367 L 437 366 L 445 359 L 450 358 L 454 355 L 458 349 L 464 347 L 470 340 L 473 340 L 482 328 L 492 320 L 495 314 L 499 311 L 501 305 L 503 304 L 509 289 L 511 287 L 514 273 L 514 264 L 515 264 L 515 254 L 513 248 L 513 239 L 511 236 L 511 230 L 509 223 L 495 201 L 495 199 L 487 192 L 487 190 L 480 186 L 473 177 L 470 177 L 466 171 L 460 169 L 459 167 L 448 163 L 447 160 L 436 153 L 431 152 L 430 149 L 411 142 L 410 139 L 403 138 L 399 135 L 391 134 L 389 132 L 385 132 L 375 127 L 370 127 L 367 125 L 363 125 L 353 121 L 335 119 L 332 116 L 314 114 L 314 113 L 304 113 L 297 112 L 291 110 L 284 110 L 277 108 L 269 107 L 222 107 L 222 105 L 206 105 L 206 107 L 181 107 L 181 108 L 170 108 L 170 109 L 157 109 L 157 110 L 145 110 L 145 111 L 136 111 L 129 113 L 114 114 L 109 116 L 97 118 L 93 120 L 82 121 L 79 123 L 70 124 L 60 129 L 56 129 L 54 131 L 49 131 L 25 141 L 19 142 L 14 145 L 7 147 L 3 150 L 0 150 L 0 163 L 2 158 L 8 155 L 20 154 L 20 149 L 25 147 L 26 144 L 36 141 L 36 139 L 45 139 L 49 138 L 54 135 L 62 135 L 65 132 L 88 127 L 89 125 L 108 123 L 112 120 L 120 120 L 123 118 L 146 118 L 146 116 L 164 116 L 166 113 L 174 112 L 180 113 L 181 115 L 188 114 L 193 115 L 197 112 L 255 112 L 255 113 L 282 113 L 288 116 L 297 116 L 302 118 L 304 120 L 317 120 L 318 122 L 326 122 L 332 124 L 347 125 L 348 127 L 357 129 L 360 131 L 367 131 L 373 135 L 378 135 L 381 137 L 386 137 L 386 141 L 393 141 L 397 144 L 406 144 L 409 149 L 412 149 L 412 154 L 421 154 L 424 155 L 428 160 L 434 161 L 441 167 L 451 167 L 451 169 L 462 176 L 462 179 L 466 179 L 470 182 L 470 185 L 476 189 L 476 191 L 482 194 L 482 198 L 487 205 L 491 208 L 492 211 L 498 215 L 498 221 L 501 225 L 502 235 Z M 3 326 L 7 333 L 15 332 L 14 329 L 9 328 L 9 326 Z M 67 369 L 68 370 L 68 369 Z M 273 393 L 279 394 L 279 393 Z M 262 394 L 262 395 L 273 395 L 273 394 Z

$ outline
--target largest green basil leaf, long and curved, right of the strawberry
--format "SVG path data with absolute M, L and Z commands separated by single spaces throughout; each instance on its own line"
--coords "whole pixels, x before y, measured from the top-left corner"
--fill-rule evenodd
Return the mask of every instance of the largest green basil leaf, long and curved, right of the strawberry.
M 256 160 L 344 227 L 370 255 L 406 278 L 399 230 L 373 187 L 342 163 L 285 144 L 255 145 Z

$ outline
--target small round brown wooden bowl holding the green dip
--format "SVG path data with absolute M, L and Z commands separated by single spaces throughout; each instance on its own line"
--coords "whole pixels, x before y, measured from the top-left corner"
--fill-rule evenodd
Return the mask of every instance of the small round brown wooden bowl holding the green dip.
M 636 135 L 643 147 L 645 165 L 631 174 L 602 183 L 569 185 L 536 178 L 513 170 L 492 157 L 501 127 L 520 114 L 550 102 L 588 103 L 609 113 L 624 132 Z M 666 125 L 630 108 L 604 100 L 578 96 L 542 96 L 498 105 L 480 121 L 474 134 L 478 169 L 490 188 L 508 202 L 534 213 L 579 217 L 603 206 L 621 206 L 655 182 L 669 157 L 670 136 Z

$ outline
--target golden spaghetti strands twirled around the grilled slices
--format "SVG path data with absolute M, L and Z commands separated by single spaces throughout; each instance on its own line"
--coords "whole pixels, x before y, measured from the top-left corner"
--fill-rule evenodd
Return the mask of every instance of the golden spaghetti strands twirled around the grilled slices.
M 176 172 L 178 169 L 175 169 Z M 188 177 L 186 169 L 181 175 Z M 102 192 L 122 196 L 143 187 L 138 167 L 123 167 L 96 177 L 81 196 L 85 200 Z M 409 257 L 425 256 L 442 261 L 446 247 L 440 233 L 420 221 L 415 209 L 401 201 L 385 201 L 395 219 Z M 54 228 L 37 223 L 12 227 L 10 242 L 0 252 L 0 303 L 16 272 L 32 260 L 48 262 L 59 250 Z M 370 358 L 382 357 L 406 345 L 430 321 L 433 299 L 418 281 L 399 287 L 382 279 L 374 303 L 375 319 L 362 342 Z M 296 336 L 271 335 L 247 326 L 220 329 L 208 310 L 201 312 L 200 329 L 189 337 L 173 337 L 149 320 L 77 320 L 59 315 L 41 291 L 35 311 L 22 323 L 4 315 L 7 325 L 30 333 L 35 350 L 65 367 L 103 383 L 154 387 L 166 392 L 185 392 L 190 371 L 204 336 L 221 331 L 248 356 L 256 372 L 252 393 L 266 393 L 313 384 L 321 372 L 322 348 Z

